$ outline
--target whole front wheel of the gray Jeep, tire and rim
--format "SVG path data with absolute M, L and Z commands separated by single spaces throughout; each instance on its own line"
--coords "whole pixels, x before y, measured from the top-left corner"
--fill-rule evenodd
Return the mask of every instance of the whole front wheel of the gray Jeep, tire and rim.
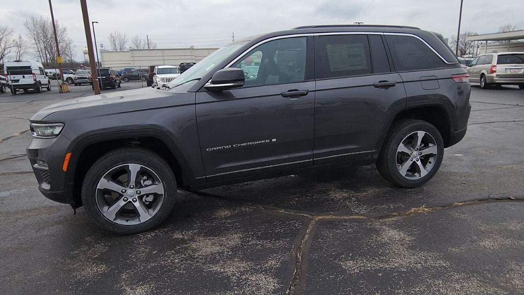
M 137 234 L 160 225 L 178 200 L 168 163 L 145 149 L 124 148 L 101 157 L 82 185 L 91 219 L 117 234 Z

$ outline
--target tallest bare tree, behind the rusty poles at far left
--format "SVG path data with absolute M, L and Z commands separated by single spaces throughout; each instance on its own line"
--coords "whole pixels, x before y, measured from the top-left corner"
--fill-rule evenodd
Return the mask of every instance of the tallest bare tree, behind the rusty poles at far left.
M 44 66 L 57 66 L 57 47 L 54 43 L 53 27 L 49 18 L 31 16 L 24 22 L 29 38 L 35 49 L 35 56 L 42 61 Z M 55 24 L 57 28 L 58 47 L 62 58 L 72 58 L 71 53 L 67 49 L 72 44 L 71 38 L 67 34 L 67 28 Z

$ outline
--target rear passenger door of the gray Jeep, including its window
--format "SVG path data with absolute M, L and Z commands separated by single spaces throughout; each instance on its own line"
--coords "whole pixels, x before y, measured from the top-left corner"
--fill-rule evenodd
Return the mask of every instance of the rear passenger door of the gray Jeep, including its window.
M 370 159 L 388 114 L 406 105 L 381 34 L 315 36 L 314 164 Z

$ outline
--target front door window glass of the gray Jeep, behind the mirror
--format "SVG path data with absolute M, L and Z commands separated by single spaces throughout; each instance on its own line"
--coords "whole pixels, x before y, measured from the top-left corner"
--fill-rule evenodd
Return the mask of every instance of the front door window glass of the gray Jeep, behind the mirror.
M 307 37 L 269 41 L 249 51 L 233 67 L 242 69 L 244 87 L 305 80 Z

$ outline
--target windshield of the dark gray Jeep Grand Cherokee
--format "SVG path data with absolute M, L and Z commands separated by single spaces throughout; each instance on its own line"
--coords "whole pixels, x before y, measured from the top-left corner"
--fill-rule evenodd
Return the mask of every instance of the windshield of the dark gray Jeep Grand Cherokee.
M 208 57 L 197 62 L 196 65 L 187 69 L 185 72 L 181 73 L 177 79 L 171 81 L 168 86 L 169 88 L 177 87 L 183 83 L 189 82 L 195 79 L 201 79 L 206 73 L 212 70 L 216 65 L 220 64 L 225 58 L 230 56 L 238 48 L 243 46 L 247 41 L 230 43 L 226 46 L 219 48 L 214 51 Z

